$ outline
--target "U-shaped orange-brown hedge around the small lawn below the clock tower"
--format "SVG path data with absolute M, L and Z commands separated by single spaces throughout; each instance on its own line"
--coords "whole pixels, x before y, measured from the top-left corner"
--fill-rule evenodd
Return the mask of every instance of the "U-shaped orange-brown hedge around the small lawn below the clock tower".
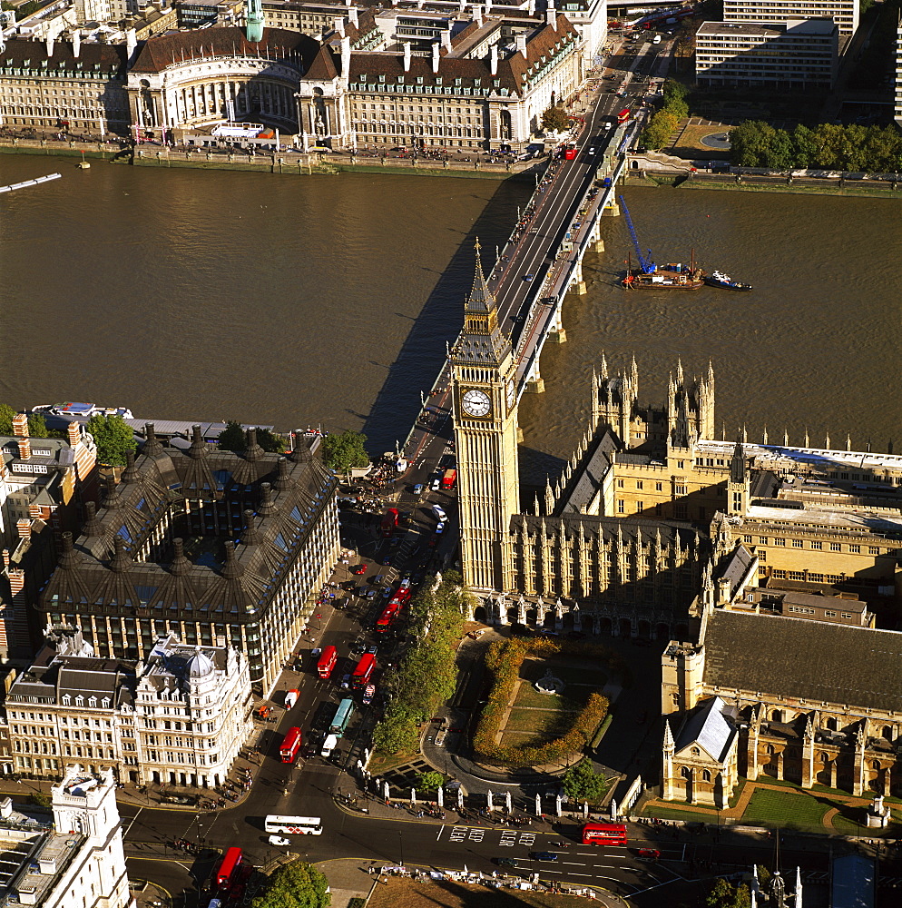
M 544 745 L 500 745 L 495 743 L 501 731 L 501 720 L 507 707 L 513 702 L 516 683 L 520 677 L 520 666 L 526 656 L 591 656 L 611 670 L 623 667 L 623 660 L 605 646 L 596 643 L 555 640 L 548 637 L 534 637 L 495 641 L 485 654 L 485 666 L 495 676 L 488 701 L 483 709 L 473 747 L 476 754 L 496 765 L 508 767 L 535 766 L 554 763 L 565 756 L 582 751 L 592 740 L 595 729 L 601 725 L 608 712 L 608 699 L 602 694 L 592 694 L 576 716 L 570 730 Z

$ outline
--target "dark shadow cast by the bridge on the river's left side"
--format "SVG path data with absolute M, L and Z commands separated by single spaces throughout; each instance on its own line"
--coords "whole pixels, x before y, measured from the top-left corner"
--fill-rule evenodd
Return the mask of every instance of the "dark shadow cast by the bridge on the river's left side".
M 466 234 L 445 271 L 436 271 L 436 286 L 429 294 L 397 359 L 388 374 L 363 429 L 371 453 L 394 447 L 407 438 L 407 431 L 421 409 L 420 391 L 427 392 L 446 360 L 446 344 L 453 343 L 464 321 L 466 294 L 473 283 L 474 242 L 483 247 L 483 264 L 489 271 L 495 262 L 495 247 L 503 246 L 516 221 L 516 206 L 524 204 L 532 183 L 506 180 L 500 183 L 482 213 Z M 424 271 L 435 271 L 427 265 Z M 381 446 L 381 447 L 379 447 Z

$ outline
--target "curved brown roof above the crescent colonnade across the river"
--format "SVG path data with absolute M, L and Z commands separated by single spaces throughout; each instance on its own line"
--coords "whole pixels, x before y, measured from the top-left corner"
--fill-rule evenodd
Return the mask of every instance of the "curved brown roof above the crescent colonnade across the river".
M 319 50 L 320 44 L 314 38 L 286 28 L 264 28 L 262 39 L 254 44 L 245 37 L 243 29 L 225 25 L 154 35 L 144 42 L 131 72 L 161 73 L 183 60 L 222 56 L 265 57 L 299 66 L 306 72 Z

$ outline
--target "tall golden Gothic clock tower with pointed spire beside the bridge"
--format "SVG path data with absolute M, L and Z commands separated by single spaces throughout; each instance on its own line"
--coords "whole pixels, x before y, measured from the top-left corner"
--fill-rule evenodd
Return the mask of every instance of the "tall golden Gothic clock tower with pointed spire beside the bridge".
M 505 592 L 513 587 L 508 528 L 520 509 L 515 362 L 498 326 L 478 240 L 464 319 L 451 350 L 464 582 L 476 590 Z

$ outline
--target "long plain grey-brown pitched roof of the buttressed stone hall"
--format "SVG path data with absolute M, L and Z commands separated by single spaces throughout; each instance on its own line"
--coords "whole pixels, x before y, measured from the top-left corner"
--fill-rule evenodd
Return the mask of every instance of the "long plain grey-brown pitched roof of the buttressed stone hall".
M 718 609 L 707 686 L 902 711 L 902 633 Z

